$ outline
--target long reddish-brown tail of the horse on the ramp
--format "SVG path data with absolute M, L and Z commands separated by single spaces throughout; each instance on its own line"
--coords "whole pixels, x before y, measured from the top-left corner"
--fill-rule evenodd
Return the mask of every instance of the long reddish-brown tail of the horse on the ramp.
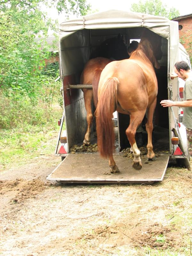
M 113 154 L 115 133 L 113 112 L 116 110 L 116 92 L 119 80 L 109 78 L 103 85 L 96 108 L 97 143 L 100 155 L 107 158 Z

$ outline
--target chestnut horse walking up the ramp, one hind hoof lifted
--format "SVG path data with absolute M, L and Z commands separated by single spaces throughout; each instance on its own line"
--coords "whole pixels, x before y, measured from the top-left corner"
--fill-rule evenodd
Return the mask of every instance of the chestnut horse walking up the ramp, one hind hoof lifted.
M 142 163 L 140 150 L 135 141 L 135 133 L 142 122 L 146 110 L 148 120 L 148 160 L 155 160 L 152 145 L 153 113 L 156 107 L 157 79 L 155 69 L 160 68 L 157 60 L 162 57 L 161 37 L 144 29 L 138 48 L 128 60 L 113 61 L 101 72 L 96 108 L 97 140 L 100 155 L 109 159 L 110 171 L 119 172 L 113 159 L 115 134 L 112 124 L 114 111 L 130 115 L 126 129 L 133 153 L 133 168 L 140 170 Z

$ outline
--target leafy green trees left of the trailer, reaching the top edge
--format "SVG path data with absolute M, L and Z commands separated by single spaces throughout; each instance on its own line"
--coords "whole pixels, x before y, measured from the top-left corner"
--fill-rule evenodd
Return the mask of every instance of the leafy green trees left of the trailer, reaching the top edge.
M 45 80 L 41 69 L 50 55 L 48 29 L 57 33 L 57 20 L 43 11 L 49 7 L 66 18 L 70 13 L 84 15 L 90 9 L 86 0 L 0 1 L 0 88 L 7 96 L 16 99 L 27 94 L 31 98 L 41 91 Z

